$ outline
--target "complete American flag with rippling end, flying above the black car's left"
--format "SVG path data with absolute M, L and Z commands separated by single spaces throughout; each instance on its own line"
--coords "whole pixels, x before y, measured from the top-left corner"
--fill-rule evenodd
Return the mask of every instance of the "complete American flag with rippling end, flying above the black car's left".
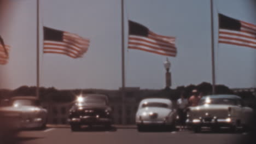
M 88 50 L 89 39 L 77 34 L 44 27 L 44 53 L 59 53 L 79 58 Z

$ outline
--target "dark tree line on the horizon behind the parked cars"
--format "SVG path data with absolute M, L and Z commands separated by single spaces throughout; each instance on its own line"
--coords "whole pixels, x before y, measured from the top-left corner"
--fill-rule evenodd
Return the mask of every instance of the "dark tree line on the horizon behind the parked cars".
M 139 99 L 143 99 L 146 97 L 166 97 L 172 100 L 177 100 L 181 94 L 184 95 L 185 98 L 189 98 L 191 95 L 191 91 L 193 89 L 197 89 L 197 91 L 201 92 L 202 95 L 212 94 L 212 85 L 208 82 L 202 82 L 199 85 L 188 85 L 188 86 L 179 86 L 175 89 L 165 88 L 159 89 L 157 91 L 150 92 L 148 89 L 147 94 L 143 94 L 143 89 L 139 90 Z M 40 87 L 39 88 L 39 99 L 41 101 L 53 101 L 59 103 L 65 103 L 69 101 L 73 101 L 76 95 L 80 93 L 102 93 L 104 94 L 104 89 L 56 89 L 54 87 Z M 107 94 L 107 90 L 106 90 Z M 240 96 L 242 99 L 248 101 L 254 101 L 255 95 L 252 92 L 237 92 L 235 93 L 229 87 L 225 85 L 216 85 L 216 94 L 236 94 Z M 0 89 L 0 99 L 8 99 L 15 96 L 35 96 L 36 95 L 36 86 L 21 86 L 14 90 L 10 89 Z M 136 96 L 136 94 L 134 94 Z M 111 95 L 109 95 L 111 97 Z M 111 100 L 111 98 L 110 98 Z

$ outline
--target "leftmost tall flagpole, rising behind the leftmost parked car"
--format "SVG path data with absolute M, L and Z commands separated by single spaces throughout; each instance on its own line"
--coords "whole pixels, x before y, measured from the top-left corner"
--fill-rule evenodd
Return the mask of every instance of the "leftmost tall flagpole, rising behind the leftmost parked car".
M 39 99 L 39 0 L 37 0 L 37 88 L 36 97 Z

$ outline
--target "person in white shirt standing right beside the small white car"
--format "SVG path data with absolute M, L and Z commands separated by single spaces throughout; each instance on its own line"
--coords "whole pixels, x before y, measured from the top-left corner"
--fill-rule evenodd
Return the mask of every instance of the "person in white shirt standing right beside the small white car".
M 177 100 L 178 104 L 178 116 L 179 116 L 179 123 L 181 124 L 180 130 L 184 129 L 185 121 L 187 117 L 187 106 L 188 106 L 188 99 L 184 98 L 183 93 L 181 94 L 181 98 Z

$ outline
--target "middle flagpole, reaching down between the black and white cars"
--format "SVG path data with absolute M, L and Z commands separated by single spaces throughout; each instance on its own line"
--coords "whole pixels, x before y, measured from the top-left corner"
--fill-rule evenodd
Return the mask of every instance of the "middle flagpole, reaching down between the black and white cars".
M 124 45 L 124 0 L 121 0 L 121 28 L 122 28 L 122 124 L 125 124 L 125 45 Z

